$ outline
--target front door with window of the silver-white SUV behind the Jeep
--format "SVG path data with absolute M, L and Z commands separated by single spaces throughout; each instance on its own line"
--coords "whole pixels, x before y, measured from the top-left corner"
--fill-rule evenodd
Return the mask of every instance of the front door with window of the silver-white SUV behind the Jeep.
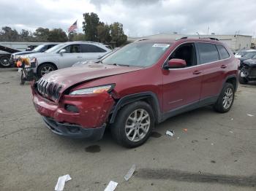
M 59 55 L 59 68 L 64 69 L 72 66 L 78 61 L 83 61 L 82 54 L 80 53 L 80 44 L 71 44 L 64 47 L 66 52 Z

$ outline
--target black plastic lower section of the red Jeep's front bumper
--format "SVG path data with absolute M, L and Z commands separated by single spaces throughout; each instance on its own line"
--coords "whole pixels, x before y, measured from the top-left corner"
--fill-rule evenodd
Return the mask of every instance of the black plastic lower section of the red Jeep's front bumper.
M 80 125 L 56 122 L 50 117 L 42 117 L 47 128 L 59 136 L 65 136 L 74 139 L 99 140 L 105 131 L 105 124 L 99 128 L 82 128 Z

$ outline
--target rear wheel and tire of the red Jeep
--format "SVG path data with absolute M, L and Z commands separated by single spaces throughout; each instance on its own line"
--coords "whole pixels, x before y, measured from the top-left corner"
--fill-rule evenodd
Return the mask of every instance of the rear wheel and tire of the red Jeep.
M 225 83 L 222 92 L 219 94 L 217 102 L 214 104 L 215 111 L 225 113 L 230 111 L 235 98 L 235 89 L 232 84 Z

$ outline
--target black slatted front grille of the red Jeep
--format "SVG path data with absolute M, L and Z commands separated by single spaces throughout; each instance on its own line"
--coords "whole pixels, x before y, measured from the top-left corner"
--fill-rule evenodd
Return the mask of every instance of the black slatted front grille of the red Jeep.
M 37 91 L 45 98 L 50 98 L 52 100 L 57 100 L 60 95 L 61 85 L 48 82 L 46 79 L 39 79 L 37 82 Z

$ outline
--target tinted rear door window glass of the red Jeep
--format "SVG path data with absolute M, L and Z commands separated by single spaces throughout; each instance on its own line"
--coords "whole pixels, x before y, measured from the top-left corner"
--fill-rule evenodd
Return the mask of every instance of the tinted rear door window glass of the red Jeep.
M 200 64 L 219 61 L 219 53 L 215 44 L 197 43 Z

